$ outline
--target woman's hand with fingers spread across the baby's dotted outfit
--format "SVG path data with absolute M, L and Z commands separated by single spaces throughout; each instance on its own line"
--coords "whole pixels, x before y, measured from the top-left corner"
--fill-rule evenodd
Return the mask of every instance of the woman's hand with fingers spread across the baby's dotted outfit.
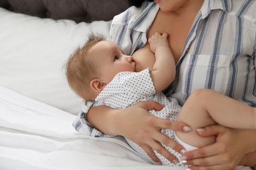
M 167 160 L 175 163 L 178 161 L 177 158 L 160 143 L 173 148 L 177 152 L 181 152 L 184 148 L 160 131 L 162 128 L 167 128 L 185 132 L 190 127 L 187 127 L 186 124 L 152 116 L 148 113 L 148 110 L 152 109 L 161 110 L 163 106 L 156 101 L 141 101 L 127 109 L 123 109 L 122 114 L 117 114 L 114 118 L 116 126 L 114 129 L 118 129 L 116 131 L 117 134 L 139 144 L 153 161 L 161 164 L 159 158 L 154 154 L 154 149 Z

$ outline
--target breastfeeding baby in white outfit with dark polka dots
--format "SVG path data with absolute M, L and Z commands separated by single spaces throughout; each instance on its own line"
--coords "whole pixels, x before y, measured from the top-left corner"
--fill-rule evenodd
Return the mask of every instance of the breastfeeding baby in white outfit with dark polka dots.
M 182 144 L 186 151 L 215 143 L 215 137 L 200 137 L 196 129 L 213 124 L 227 127 L 255 128 L 255 109 L 213 90 L 196 90 L 184 106 L 177 99 L 167 98 L 161 92 L 175 78 L 175 61 L 167 41 L 167 33 L 155 33 L 150 37 L 150 49 L 156 56 L 152 68 L 135 72 L 133 56 L 123 54 L 114 42 L 105 41 L 102 35 L 89 35 L 89 40 L 66 63 L 66 75 L 70 87 L 86 101 L 88 107 L 106 105 L 112 109 L 125 109 L 139 101 L 154 100 L 164 105 L 162 110 L 150 110 L 159 118 L 184 122 L 192 128 L 188 133 L 161 129 L 161 132 Z M 226 107 L 228 106 L 228 107 Z M 242 114 L 244 112 L 244 114 Z M 179 114 L 179 116 L 178 116 Z M 246 114 L 246 115 L 245 115 Z M 150 163 L 157 164 L 139 145 L 127 143 Z M 165 146 L 171 154 L 181 154 Z M 184 151 L 184 150 L 183 150 Z M 154 151 L 163 165 L 181 165 L 182 160 L 169 161 Z

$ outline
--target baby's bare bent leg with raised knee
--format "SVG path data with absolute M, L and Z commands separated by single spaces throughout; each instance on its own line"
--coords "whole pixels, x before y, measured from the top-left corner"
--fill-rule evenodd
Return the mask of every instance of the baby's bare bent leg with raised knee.
M 196 147 L 215 143 L 215 137 L 200 137 L 196 129 L 213 124 L 235 128 L 255 128 L 255 109 L 213 90 L 196 90 L 184 104 L 177 122 L 184 122 L 192 131 L 175 131 L 184 143 Z

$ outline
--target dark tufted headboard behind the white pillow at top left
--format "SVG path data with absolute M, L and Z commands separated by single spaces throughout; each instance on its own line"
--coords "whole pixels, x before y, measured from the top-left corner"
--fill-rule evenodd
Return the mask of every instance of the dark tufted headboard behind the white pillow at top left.
M 125 0 L 0 0 L 0 7 L 40 18 L 79 23 L 112 20 L 129 5 Z

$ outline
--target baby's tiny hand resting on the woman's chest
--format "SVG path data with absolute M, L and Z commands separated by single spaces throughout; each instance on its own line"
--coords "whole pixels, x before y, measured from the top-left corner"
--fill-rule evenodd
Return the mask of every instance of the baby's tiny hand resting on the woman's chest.
M 161 35 L 160 33 L 156 32 L 154 35 L 152 35 L 152 37 L 148 39 L 151 51 L 155 53 L 158 46 L 169 46 L 167 37 L 167 33 L 163 33 L 163 35 Z

